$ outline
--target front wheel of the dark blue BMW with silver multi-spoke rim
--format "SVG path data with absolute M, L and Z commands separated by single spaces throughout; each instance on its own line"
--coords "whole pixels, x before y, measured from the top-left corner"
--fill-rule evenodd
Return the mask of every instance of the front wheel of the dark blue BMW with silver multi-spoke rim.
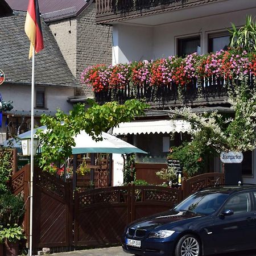
M 199 238 L 187 234 L 180 238 L 175 247 L 175 256 L 200 256 L 201 246 Z

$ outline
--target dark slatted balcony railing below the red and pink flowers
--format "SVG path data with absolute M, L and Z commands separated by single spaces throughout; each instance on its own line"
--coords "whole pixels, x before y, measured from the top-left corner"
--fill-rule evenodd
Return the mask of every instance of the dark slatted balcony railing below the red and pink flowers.
M 251 81 L 252 83 L 252 81 Z M 122 89 L 105 89 L 95 93 L 96 101 L 100 104 L 109 101 L 120 103 L 137 98 L 146 102 L 158 102 L 160 105 L 208 105 L 213 101 L 224 102 L 228 96 L 228 86 L 224 79 L 210 77 L 207 80 L 192 80 L 183 88 L 177 89 L 175 83 L 159 86 L 148 86 L 146 84 L 123 86 Z M 230 86 L 229 86 L 230 88 Z

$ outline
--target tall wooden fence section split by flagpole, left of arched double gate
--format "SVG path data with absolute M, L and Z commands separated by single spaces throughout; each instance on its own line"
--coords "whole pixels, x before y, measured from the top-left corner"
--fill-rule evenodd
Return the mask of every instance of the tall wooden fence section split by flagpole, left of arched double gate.
M 12 177 L 15 195 L 21 194 L 26 213 L 23 228 L 29 241 L 30 232 L 30 164 Z M 73 243 L 72 184 L 34 169 L 33 248 L 70 246 Z

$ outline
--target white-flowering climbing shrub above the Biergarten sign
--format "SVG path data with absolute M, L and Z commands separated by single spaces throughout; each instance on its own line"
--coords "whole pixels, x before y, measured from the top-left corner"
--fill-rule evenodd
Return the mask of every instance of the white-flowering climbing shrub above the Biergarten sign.
M 191 108 L 175 109 L 171 118 L 182 117 L 191 123 L 192 143 L 221 151 L 251 151 L 256 148 L 256 89 L 249 88 L 247 77 L 239 84 L 233 82 L 228 102 L 234 110 L 233 117 L 217 111 L 193 113 Z M 202 146 L 203 147 L 203 146 Z

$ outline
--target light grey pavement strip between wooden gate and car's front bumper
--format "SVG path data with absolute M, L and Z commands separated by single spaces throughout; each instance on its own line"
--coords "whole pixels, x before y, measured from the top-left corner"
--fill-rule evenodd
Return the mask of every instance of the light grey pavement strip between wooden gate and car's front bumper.
M 108 248 L 99 248 L 99 249 L 88 249 L 81 251 L 69 251 L 67 253 L 53 253 L 49 254 L 52 256 L 132 256 L 132 254 L 125 253 L 121 246 L 117 247 L 108 247 Z

